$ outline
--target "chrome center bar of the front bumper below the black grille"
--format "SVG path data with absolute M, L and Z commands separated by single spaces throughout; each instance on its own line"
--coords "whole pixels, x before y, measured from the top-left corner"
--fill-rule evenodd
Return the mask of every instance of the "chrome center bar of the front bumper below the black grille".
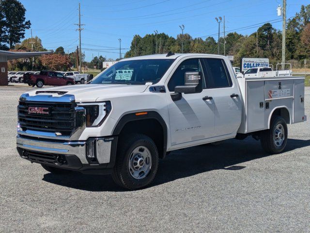
M 16 146 L 26 150 L 45 153 L 76 155 L 82 164 L 88 164 L 86 159 L 86 141 L 50 141 L 45 139 L 16 137 Z

